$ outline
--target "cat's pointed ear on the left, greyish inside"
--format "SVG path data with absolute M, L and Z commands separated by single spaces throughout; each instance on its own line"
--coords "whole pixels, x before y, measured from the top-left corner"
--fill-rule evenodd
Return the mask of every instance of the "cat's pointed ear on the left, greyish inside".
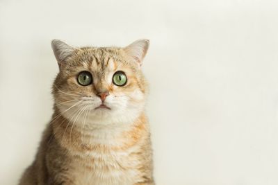
M 58 39 L 52 40 L 51 47 L 59 66 L 61 62 L 65 62 L 65 60 L 74 53 L 74 48 L 72 46 L 69 46 Z

